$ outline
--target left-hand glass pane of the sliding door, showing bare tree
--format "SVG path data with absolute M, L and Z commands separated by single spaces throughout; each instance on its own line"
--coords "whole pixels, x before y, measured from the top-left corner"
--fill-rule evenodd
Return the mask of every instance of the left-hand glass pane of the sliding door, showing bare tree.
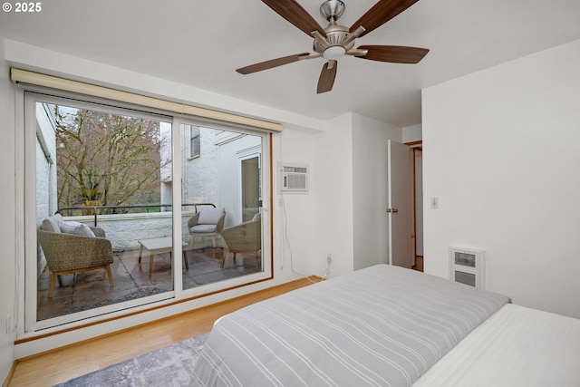
M 40 98 L 27 104 L 36 132 L 27 149 L 35 155 L 38 244 L 36 294 L 26 299 L 36 300 L 36 321 L 51 326 L 167 298 L 171 124 Z

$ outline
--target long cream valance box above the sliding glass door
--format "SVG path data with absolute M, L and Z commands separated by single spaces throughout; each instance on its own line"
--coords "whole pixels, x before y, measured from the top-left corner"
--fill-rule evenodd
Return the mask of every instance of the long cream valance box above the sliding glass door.
M 91 83 L 72 81 L 43 73 L 34 73 L 26 70 L 12 68 L 10 75 L 13 82 L 23 82 L 35 86 L 49 87 L 64 92 L 76 92 L 108 100 L 133 103 L 163 111 L 171 111 L 182 115 L 201 117 L 212 121 L 224 121 L 239 125 L 250 126 L 264 131 L 282 131 L 282 124 L 270 121 L 258 120 L 224 111 L 214 111 L 199 108 L 185 103 L 170 102 L 159 98 L 148 97 L 133 92 L 122 92 L 108 87 L 97 86 Z

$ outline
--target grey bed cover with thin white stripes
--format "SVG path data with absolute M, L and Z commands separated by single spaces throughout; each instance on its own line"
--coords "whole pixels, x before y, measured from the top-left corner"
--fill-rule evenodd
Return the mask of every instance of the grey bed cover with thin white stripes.
M 198 386 L 409 386 L 509 301 L 387 265 L 228 314 L 195 364 Z

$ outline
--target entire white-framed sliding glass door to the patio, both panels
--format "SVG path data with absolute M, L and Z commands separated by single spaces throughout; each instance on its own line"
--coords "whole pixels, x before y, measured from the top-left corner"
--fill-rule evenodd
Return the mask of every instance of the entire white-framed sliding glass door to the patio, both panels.
M 269 276 L 266 133 L 82 100 L 24 93 L 26 332 Z

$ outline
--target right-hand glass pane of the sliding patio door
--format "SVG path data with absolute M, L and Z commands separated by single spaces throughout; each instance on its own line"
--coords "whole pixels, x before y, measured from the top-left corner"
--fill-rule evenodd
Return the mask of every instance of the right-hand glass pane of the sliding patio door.
M 194 124 L 181 125 L 181 138 L 183 241 L 189 264 L 183 288 L 261 272 L 261 219 L 245 223 L 259 211 L 257 155 L 263 138 Z M 242 164 L 240 174 L 240 155 L 248 149 L 255 156 Z

